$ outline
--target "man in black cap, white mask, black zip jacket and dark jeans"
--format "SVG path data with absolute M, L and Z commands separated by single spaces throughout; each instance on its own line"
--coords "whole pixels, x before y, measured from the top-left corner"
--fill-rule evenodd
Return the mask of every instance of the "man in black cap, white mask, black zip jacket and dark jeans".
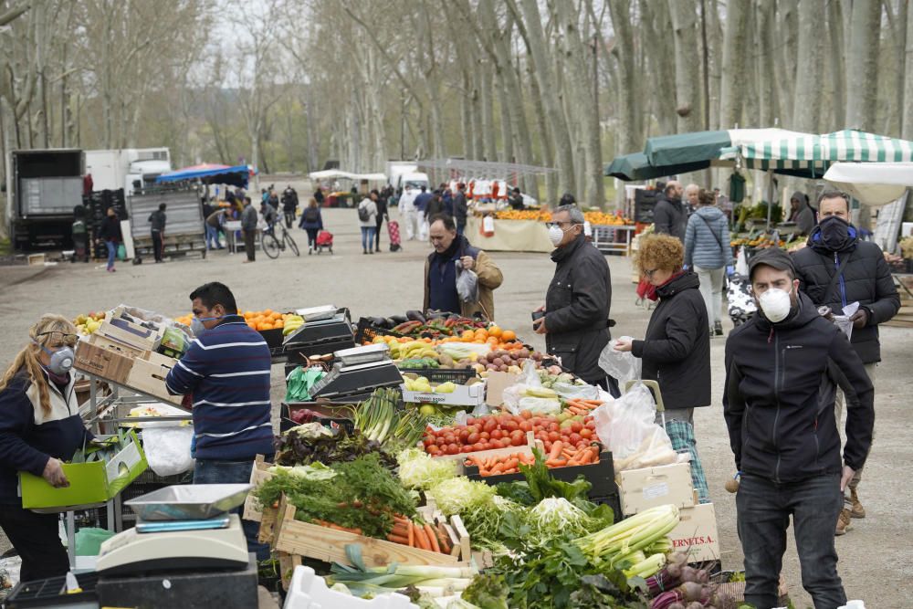
M 729 334 L 723 414 L 741 473 L 736 510 L 745 554 L 745 602 L 777 606 L 792 516 L 805 590 L 815 607 L 846 604 L 834 521 L 843 491 L 866 462 L 874 389 L 845 334 L 800 293 L 780 249 L 751 259 L 759 312 Z M 851 397 L 841 465 L 835 383 Z

